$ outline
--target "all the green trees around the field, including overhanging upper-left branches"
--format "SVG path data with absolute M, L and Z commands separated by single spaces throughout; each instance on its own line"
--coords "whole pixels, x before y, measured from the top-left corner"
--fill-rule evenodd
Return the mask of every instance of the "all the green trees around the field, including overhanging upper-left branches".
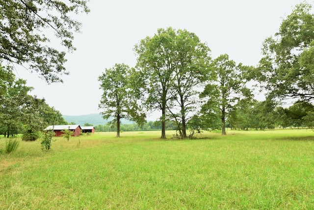
M 72 12 L 86 12 L 86 1 L 49 4 L 48 1 L 15 1 L 12 6 L 1 2 L 0 11 L 0 133 L 22 131 L 34 140 L 47 123 L 67 123 L 59 111 L 44 99 L 29 95 L 31 87 L 16 79 L 13 63 L 26 64 L 48 82 L 62 82 L 68 74 L 64 67 L 65 52 L 49 45 L 43 32 L 56 32 L 61 46 L 68 51 L 73 31 L 80 23 Z M 257 66 L 231 60 L 227 54 L 211 58 L 210 48 L 187 30 L 171 27 L 158 29 L 134 46 L 137 63 L 130 67 L 116 63 L 98 77 L 103 90 L 99 108 L 110 120 L 117 137 L 121 119 L 135 121 L 143 127 L 146 114 L 158 110 L 161 138 L 172 126 L 178 138 L 187 138 L 200 130 L 264 129 L 274 126 L 312 126 L 314 122 L 314 14 L 312 5 L 297 4 L 274 36 L 265 39 L 262 59 Z M 38 12 L 41 11 L 41 12 Z M 50 14 L 50 12 L 56 11 Z M 21 32 L 24 31 L 24 32 Z M 266 99 L 254 99 L 252 87 L 265 92 Z M 283 99 L 294 99 L 283 108 Z M 170 126 L 170 127 L 171 127 Z M 152 124 L 150 125 L 151 129 Z M 130 128 L 131 129 L 131 128 Z M 135 126 L 134 126 L 135 129 Z M 148 129 L 148 126 L 147 126 Z M 100 128 L 101 130 L 101 128 Z M 190 131 L 190 133 L 188 133 Z

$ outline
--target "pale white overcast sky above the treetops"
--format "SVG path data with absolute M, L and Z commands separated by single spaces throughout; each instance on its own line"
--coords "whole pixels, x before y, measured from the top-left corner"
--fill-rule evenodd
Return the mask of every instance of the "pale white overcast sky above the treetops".
M 236 63 L 256 66 L 262 42 L 279 30 L 282 18 L 302 0 L 91 0 L 88 15 L 75 17 L 82 33 L 77 51 L 67 54 L 63 84 L 47 85 L 36 73 L 17 68 L 34 87 L 32 95 L 63 115 L 99 113 L 98 77 L 115 63 L 134 66 L 133 47 L 158 28 L 194 32 L 211 49 L 212 58 L 228 54 Z M 313 4 L 313 0 L 308 1 Z

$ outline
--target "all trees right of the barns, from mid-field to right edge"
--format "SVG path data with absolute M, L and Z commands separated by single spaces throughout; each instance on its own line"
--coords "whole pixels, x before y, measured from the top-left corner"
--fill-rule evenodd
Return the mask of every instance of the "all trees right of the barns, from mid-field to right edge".
M 168 120 L 176 123 L 180 138 L 187 137 L 187 128 L 221 128 L 225 135 L 227 123 L 241 129 L 290 125 L 294 111 L 277 108 L 278 102 L 288 97 L 298 100 L 294 106 L 304 108 L 302 125 L 311 125 L 311 8 L 306 2 L 296 5 L 279 32 L 265 39 L 263 57 L 256 67 L 236 64 L 228 55 L 212 59 L 207 44 L 187 30 L 158 29 L 154 36 L 147 36 L 134 46 L 135 67 L 115 64 L 98 78 L 104 90 L 99 104 L 104 118 L 114 117 L 111 122 L 117 127 L 117 137 L 122 118 L 141 125 L 145 114 L 152 110 L 161 112 L 161 138 L 166 138 Z M 247 85 L 250 81 L 266 92 L 265 101 L 254 100 Z M 281 118 L 281 123 L 273 118 Z

